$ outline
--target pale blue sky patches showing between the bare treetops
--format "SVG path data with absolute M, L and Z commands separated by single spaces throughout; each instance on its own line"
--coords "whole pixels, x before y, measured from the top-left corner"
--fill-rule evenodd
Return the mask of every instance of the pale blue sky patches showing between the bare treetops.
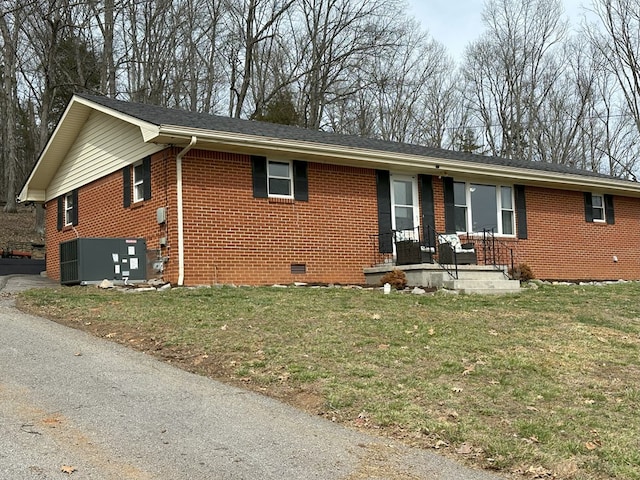
M 482 0 L 408 0 L 410 12 L 429 30 L 431 36 L 444 44 L 456 60 L 461 60 L 466 45 L 477 39 L 482 24 Z M 573 27 L 583 15 L 583 5 L 590 0 L 563 0 L 565 14 Z

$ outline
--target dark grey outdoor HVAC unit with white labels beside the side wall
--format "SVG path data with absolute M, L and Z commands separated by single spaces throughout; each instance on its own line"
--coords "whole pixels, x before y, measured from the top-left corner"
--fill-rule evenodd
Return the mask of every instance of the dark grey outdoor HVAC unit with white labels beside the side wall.
M 143 238 L 75 238 L 60 244 L 60 283 L 87 285 L 103 280 L 139 283 L 147 279 Z

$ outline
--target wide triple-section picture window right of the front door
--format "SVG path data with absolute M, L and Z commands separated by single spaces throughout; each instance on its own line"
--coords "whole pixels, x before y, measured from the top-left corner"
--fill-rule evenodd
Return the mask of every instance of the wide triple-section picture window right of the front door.
M 511 186 L 454 182 L 453 199 L 456 231 L 515 234 Z

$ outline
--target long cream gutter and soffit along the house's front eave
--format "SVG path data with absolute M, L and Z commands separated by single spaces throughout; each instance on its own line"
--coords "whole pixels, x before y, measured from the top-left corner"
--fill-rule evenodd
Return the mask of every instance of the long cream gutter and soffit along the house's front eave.
M 259 151 L 279 156 L 295 158 L 316 158 L 324 163 L 355 165 L 385 170 L 406 171 L 408 173 L 428 173 L 431 175 L 458 176 L 508 180 L 509 183 L 524 183 L 547 188 L 566 190 L 606 191 L 624 196 L 640 197 L 640 183 L 628 180 L 590 177 L 573 173 L 549 172 L 527 168 L 509 167 L 488 163 L 464 162 L 446 158 L 409 155 L 381 150 L 367 150 L 332 144 L 319 144 L 280 138 L 260 137 L 211 130 L 185 129 L 163 125 L 160 136 L 184 137 L 185 142 L 196 135 L 199 148 L 206 143 L 214 143 L 221 150 Z

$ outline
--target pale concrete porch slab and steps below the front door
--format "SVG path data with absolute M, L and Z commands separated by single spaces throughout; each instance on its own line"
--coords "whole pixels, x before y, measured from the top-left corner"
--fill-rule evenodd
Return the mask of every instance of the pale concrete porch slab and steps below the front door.
M 407 285 L 411 287 L 444 288 L 459 293 L 482 295 L 520 292 L 518 280 L 509 280 L 503 270 L 485 265 L 459 265 L 457 279 L 452 278 L 440 265 L 433 263 L 379 265 L 364 269 L 367 284 L 379 284 L 382 276 L 394 269 L 404 271 Z

